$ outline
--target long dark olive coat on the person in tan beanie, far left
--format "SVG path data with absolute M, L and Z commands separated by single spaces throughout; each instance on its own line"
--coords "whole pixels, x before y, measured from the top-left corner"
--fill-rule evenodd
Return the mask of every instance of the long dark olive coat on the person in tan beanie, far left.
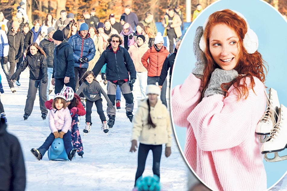
M 8 62 L 22 62 L 24 53 L 24 34 L 19 31 L 14 36 L 11 30 L 7 33 L 9 44 Z

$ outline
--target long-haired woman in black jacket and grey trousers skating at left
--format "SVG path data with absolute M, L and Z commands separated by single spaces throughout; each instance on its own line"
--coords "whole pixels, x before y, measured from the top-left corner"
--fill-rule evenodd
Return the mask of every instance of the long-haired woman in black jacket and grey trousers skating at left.
M 24 61 L 21 63 L 16 72 L 11 76 L 11 80 L 16 79 L 21 72 L 23 72 L 26 67 L 30 69 L 30 81 L 28 95 L 25 105 L 25 114 L 24 120 L 27 120 L 30 114 L 32 113 L 34 101 L 36 98 L 37 89 L 39 89 L 39 98 L 40 98 L 40 109 L 42 113 L 43 120 L 46 119 L 47 109 L 45 107 L 45 102 L 47 101 L 47 63 L 46 63 L 46 54 L 40 48 L 40 46 L 33 42 L 27 48 L 27 54 Z

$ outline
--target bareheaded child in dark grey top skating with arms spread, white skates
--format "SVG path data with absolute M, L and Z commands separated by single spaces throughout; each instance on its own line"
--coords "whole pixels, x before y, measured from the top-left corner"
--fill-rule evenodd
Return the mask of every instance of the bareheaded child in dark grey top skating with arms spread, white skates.
M 95 79 L 94 72 L 92 71 L 86 71 L 83 75 L 82 80 L 84 83 L 81 84 L 79 89 L 77 90 L 76 94 L 79 95 L 80 93 L 83 93 L 85 95 L 86 101 L 86 128 L 83 130 L 84 135 L 86 135 L 91 130 L 91 113 L 92 113 L 92 106 L 93 103 L 95 103 L 97 107 L 97 113 L 100 116 L 100 120 L 102 121 L 102 129 L 105 133 L 109 132 L 109 128 L 107 126 L 106 122 L 106 116 L 103 111 L 103 105 L 101 99 L 101 93 L 104 95 L 105 99 L 107 100 L 108 107 L 112 108 L 113 104 L 110 101 L 109 97 L 107 96 L 106 92 L 104 92 L 104 89 L 100 86 L 100 83 L 98 83 Z

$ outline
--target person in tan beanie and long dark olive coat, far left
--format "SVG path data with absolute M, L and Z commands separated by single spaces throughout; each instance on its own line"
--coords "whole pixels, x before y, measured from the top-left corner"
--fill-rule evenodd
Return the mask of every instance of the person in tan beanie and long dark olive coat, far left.
M 12 28 L 9 30 L 8 44 L 9 44 L 9 53 L 8 53 L 8 62 L 10 62 L 10 73 L 11 75 L 15 72 L 15 65 L 18 69 L 21 62 L 23 61 L 24 53 L 24 35 L 20 31 L 20 23 L 16 20 L 12 23 Z M 20 86 L 19 82 L 20 77 L 16 79 L 16 85 Z

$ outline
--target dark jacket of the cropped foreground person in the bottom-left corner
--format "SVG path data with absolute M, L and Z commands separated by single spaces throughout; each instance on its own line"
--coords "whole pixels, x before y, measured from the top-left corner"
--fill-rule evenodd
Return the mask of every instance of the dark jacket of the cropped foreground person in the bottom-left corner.
M 0 120 L 0 190 L 24 191 L 26 172 L 18 139 L 6 131 L 5 120 Z M 5 148 L 5 149 L 4 149 Z

